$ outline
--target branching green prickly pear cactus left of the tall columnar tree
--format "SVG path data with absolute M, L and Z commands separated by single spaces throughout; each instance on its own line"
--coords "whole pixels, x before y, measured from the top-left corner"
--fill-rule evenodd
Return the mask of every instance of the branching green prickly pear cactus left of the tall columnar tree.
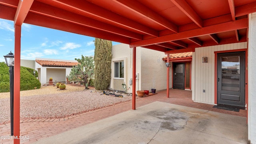
M 85 89 L 89 89 L 89 82 L 93 78 L 94 75 L 94 60 L 92 57 L 83 56 L 82 58 L 75 58 L 75 60 L 79 63 L 77 66 L 73 66 L 71 72 L 68 76 L 68 80 L 74 80 L 79 82 L 84 82 Z

